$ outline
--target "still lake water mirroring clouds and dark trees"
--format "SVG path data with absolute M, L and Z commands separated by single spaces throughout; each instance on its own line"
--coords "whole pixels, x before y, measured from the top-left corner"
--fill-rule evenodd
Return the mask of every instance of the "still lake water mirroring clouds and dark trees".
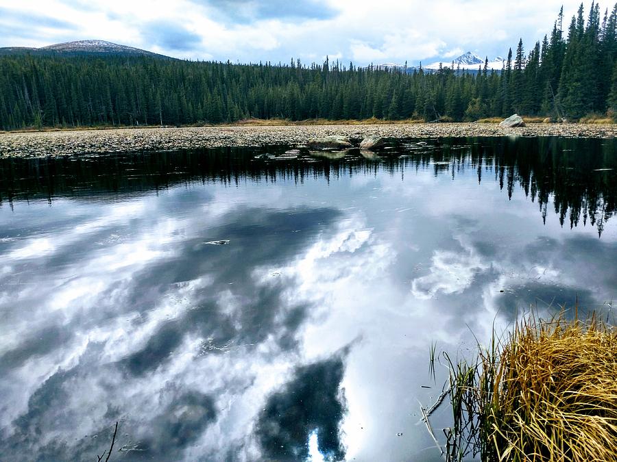
M 431 344 L 612 316 L 617 142 L 418 141 L 1 160 L 0 459 L 441 460 Z

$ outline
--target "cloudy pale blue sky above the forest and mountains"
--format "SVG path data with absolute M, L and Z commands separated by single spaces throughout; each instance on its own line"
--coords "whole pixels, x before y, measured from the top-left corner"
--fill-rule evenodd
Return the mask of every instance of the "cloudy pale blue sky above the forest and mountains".
M 0 47 L 99 39 L 191 60 L 415 65 L 504 56 L 519 38 L 530 49 L 562 4 L 567 25 L 579 0 L 0 0 Z

